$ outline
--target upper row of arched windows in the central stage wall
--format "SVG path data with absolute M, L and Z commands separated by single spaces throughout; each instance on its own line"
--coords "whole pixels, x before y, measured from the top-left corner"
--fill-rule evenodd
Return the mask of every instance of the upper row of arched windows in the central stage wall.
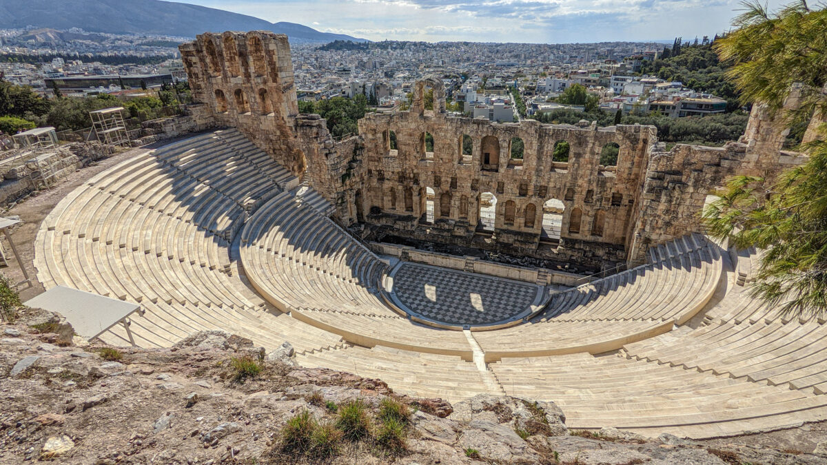
M 396 133 L 391 130 L 382 132 L 385 152 L 395 156 L 399 149 Z M 434 139 L 430 132 L 420 132 L 417 142 L 417 153 L 425 160 L 433 159 Z M 509 165 L 519 165 L 525 155 L 525 143 L 520 137 L 512 137 L 508 145 Z M 471 136 L 461 134 L 457 137 L 457 163 L 470 164 L 474 151 L 474 141 Z M 617 165 L 620 146 L 617 142 L 608 142 L 600 150 L 600 165 Z M 566 140 L 559 140 L 552 148 L 552 161 L 567 163 L 571 155 L 571 144 Z M 500 140 L 495 136 L 482 137 L 480 141 L 480 165 L 482 170 L 496 171 L 500 169 Z M 555 167 L 552 165 L 552 170 Z

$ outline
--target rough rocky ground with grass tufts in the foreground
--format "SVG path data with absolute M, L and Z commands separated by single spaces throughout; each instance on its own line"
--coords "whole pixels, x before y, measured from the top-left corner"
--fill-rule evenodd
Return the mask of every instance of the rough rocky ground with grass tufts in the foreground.
M 298 367 L 289 344 L 265 354 L 220 331 L 168 349 L 112 350 L 72 338 L 42 310 L 16 323 L 0 325 L 0 463 L 827 463 L 827 453 L 669 434 L 572 434 L 552 402 L 394 395 L 379 380 Z M 240 376 L 241 359 L 261 371 Z M 379 431 L 375 412 L 389 397 L 410 409 L 393 447 L 379 433 L 338 438 L 321 455 L 284 447 L 289 419 L 308 411 L 333 424 L 338 406 L 356 399 Z

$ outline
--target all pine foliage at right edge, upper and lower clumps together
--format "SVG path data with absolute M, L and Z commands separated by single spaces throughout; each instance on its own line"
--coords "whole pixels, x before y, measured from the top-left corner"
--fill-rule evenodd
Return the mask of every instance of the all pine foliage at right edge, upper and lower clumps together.
M 738 29 L 715 43 L 743 102 L 767 103 L 778 112 L 791 84 L 805 85 L 803 111 L 782 116 L 788 124 L 827 108 L 820 90 L 827 79 L 827 12 L 795 2 L 771 15 L 759 3 L 734 22 Z M 825 136 L 825 125 L 820 134 Z M 787 314 L 827 312 L 827 141 L 802 147 L 804 165 L 775 179 L 737 176 L 704 210 L 710 235 L 738 247 L 766 249 L 752 295 Z

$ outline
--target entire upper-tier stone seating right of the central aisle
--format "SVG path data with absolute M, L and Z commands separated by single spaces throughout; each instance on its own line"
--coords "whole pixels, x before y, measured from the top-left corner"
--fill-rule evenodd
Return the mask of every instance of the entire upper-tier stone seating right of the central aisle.
M 749 295 L 743 282 L 755 256 L 739 252 L 700 324 L 602 357 L 503 358 L 490 367 L 509 394 L 555 400 L 576 428 L 701 438 L 825 419 L 825 320 L 791 318 Z

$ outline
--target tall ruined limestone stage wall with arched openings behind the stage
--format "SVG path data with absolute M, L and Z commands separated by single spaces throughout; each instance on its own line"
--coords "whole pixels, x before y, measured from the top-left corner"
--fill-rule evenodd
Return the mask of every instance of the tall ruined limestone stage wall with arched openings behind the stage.
M 207 33 L 179 49 L 200 103 L 189 106 L 197 127 L 237 127 L 330 200 L 342 223 L 370 225 L 377 236 L 592 267 L 624 260 L 635 265 L 651 245 L 697 231 L 706 195 L 727 176 L 772 176 L 802 161 L 781 152 L 787 132 L 780 117 L 760 104 L 753 106 L 740 142 L 678 145 L 665 153 L 655 149 L 654 127 L 455 117 L 445 111 L 441 79 L 418 81 L 409 111 L 368 113 L 358 136 L 334 141 L 318 115 L 298 113 L 286 36 Z M 427 89 L 434 91 L 434 110 L 425 109 Z M 785 108 L 796 108 L 800 98 L 801 89 L 794 89 Z M 433 137 L 433 151 L 426 148 L 426 134 Z M 464 153 L 464 136 L 471 137 L 470 154 Z M 515 137 L 524 146 L 519 160 L 510 157 Z M 571 147 L 567 162 L 552 161 L 557 141 Z M 618 161 L 603 166 L 600 152 L 609 143 L 618 144 Z M 426 215 L 428 188 L 433 222 Z M 480 228 L 485 193 L 496 198 L 493 233 Z M 549 199 L 564 206 L 559 247 L 541 240 Z

